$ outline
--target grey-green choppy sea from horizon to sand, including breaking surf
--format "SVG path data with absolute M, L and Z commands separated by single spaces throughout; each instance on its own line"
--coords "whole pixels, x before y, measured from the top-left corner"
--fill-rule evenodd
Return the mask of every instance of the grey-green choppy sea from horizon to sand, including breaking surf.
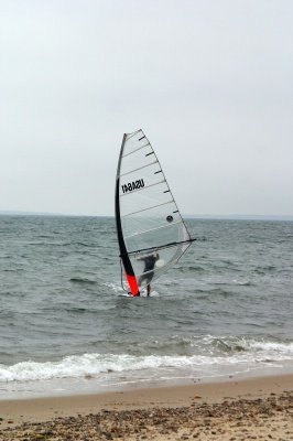
M 0 398 L 293 373 L 293 222 L 192 219 L 123 297 L 115 219 L 0 216 Z

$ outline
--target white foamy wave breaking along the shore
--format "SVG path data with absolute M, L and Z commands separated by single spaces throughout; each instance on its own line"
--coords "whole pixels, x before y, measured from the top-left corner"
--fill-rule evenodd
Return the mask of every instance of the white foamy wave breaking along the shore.
M 130 354 L 83 354 L 70 355 L 55 362 L 37 363 L 28 361 L 12 366 L 0 365 L 0 383 L 35 381 L 55 378 L 99 378 L 112 374 L 127 375 L 133 372 L 150 373 L 151 370 L 178 372 L 188 370 L 196 373 L 198 369 L 207 370 L 217 366 L 234 367 L 293 362 L 293 342 L 276 343 L 262 341 L 238 342 L 225 338 L 206 337 L 209 342 L 210 354 L 206 355 L 130 355 Z M 220 349 L 213 353 L 213 347 Z M 146 374 L 145 374 L 146 375 Z

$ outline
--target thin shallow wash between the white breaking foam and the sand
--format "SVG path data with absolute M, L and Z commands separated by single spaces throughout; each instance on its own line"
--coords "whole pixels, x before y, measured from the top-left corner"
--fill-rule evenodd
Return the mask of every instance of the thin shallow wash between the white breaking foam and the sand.
M 61 398 L 73 396 L 108 395 L 111 392 L 124 392 L 135 389 L 158 389 L 177 386 L 191 386 L 194 384 L 218 384 L 234 380 L 249 380 L 253 378 L 280 377 L 293 375 L 291 364 L 283 362 L 282 368 L 265 366 L 254 369 L 242 369 L 238 372 L 213 373 L 205 375 L 205 372 L 193 373 L 182 372 L 176 376 L 164 377 L 164 373 L 154 378 L 153 372 L 146 369 L 142 375 L 132 377 L 115 377 L 85 375 L 80 377 L 56 377 L 50 379 L 22 380 L 3 383 L 0 388 L 0 402 L 10 400 L 32 400 L 42 398 Z M 148 377 L 146 377 L 148 375 Z

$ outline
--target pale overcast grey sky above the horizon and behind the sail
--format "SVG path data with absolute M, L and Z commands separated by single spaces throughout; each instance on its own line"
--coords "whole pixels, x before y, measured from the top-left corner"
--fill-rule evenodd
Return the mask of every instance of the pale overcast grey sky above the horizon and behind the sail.
M 0 211 L 112 215 L 142 128 L 182 213 L 293 215 L 291 0 L 0 6 Z

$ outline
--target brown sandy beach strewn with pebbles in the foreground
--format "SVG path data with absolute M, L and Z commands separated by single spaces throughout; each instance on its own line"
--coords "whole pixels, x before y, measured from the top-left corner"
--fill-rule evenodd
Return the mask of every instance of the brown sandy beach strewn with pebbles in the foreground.
M 293 375 L 0 401 L 1 440 L 293 440 Z

